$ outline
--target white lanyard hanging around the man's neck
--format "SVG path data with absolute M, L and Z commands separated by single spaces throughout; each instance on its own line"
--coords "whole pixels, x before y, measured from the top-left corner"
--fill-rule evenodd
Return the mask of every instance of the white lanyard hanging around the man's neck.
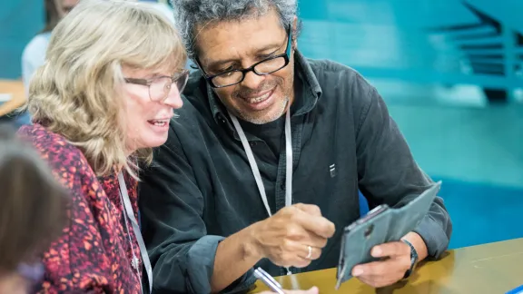
M 238 135 L 240 135 L 240 140 L 242 141 L 243 149 L 247 153 L 247 159 L 251 165 L 252 174 L 254 175 L 254 180 L 256 180 L 256 185 L 262 196 L 263 205 L 269 216 L 272 216 L 271 208 L 269 207 L 269 202 L 267 201 L 267 195 L 265 194 L 265 188 L 263 187 L 262 176 L 260 175 L 260 170 L 258 169 L 258 164 L 254 160 L 254 155 L 252 154 L 251 146 L 247 142 L 247 137 L 242 130 L 242 126 L 238 119 L 229 113 L 231 116 L 232 123 Z M 285 206 L 292 205 L 292 141 L 291 141 L 291 109 L 287 110 L 285 114 Z

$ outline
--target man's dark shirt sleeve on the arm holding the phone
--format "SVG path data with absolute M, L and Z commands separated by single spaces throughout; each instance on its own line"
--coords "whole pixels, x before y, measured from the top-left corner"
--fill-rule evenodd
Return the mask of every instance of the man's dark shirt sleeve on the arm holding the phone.
M 380 94 L 358 79 L 352 91 L 360 98 L 355 104 L 360 191 L 370 207 L 381 203 L 401 206 L 433 184 L 419 168 L 398 125 L 390 117 Z M 438 259 L 449 246 L 452 222 L 439 197 L 414 230 L 425 241 L 429 257 Z

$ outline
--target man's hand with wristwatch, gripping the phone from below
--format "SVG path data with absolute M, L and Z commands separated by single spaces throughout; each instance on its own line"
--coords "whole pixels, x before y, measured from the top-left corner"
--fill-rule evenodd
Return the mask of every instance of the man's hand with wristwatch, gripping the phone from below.
M 419 260 L 427 257 L 425 242 L 417 233 L 410 232 L 403 239 L 409 240 L 414 246 Z M 390 286 L 403 279 L 407 270 L 410 270 L 410 247 L 402 241 L 378 245 L 370 254 L 382 260 L 355 266 L 352 276 L 371 287 Z

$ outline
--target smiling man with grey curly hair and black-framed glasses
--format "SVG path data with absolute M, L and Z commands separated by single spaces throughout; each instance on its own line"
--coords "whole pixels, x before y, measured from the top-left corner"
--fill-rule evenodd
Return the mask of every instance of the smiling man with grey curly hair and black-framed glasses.
M 173 0 L 199 70 L 141 187 L 155 292 L 238 292 L 271 275 L 335 267 L 343 228 L 434 183 L 376 89 L 297 49 L 295 0 Z M 307 204 L 303 204 L 307 203 Z M 335 230 L 338 229 L 338 230 Z M 351 274 L 373 287 L 447 250 L 440 198 L 419 227 Z

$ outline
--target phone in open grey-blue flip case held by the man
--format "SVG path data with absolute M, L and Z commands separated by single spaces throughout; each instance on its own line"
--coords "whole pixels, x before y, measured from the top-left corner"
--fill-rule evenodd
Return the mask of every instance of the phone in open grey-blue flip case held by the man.
M 401 240 L 415 230 L 429 212 L 440 187 L 441 181 L 434 183 L 427 191 L 400 208 L 380 205 L 346 227 L 341 236 L 336 289 L 352 278 L 350 273 L 354 266 L 380 260 L 370 255 L 374 246 Z

